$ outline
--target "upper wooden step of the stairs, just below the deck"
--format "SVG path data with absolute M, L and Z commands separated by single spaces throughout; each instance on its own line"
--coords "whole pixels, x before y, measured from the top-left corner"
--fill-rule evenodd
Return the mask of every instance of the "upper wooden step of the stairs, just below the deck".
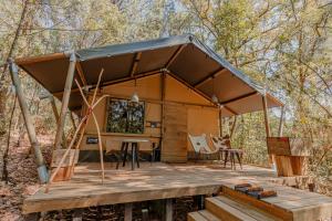
M 206 199 L 206 209 L 221 220 L 229 221 L 273 221 L 277 219 L 263 211 L 236 202 L 226 197 L 214 197 Z

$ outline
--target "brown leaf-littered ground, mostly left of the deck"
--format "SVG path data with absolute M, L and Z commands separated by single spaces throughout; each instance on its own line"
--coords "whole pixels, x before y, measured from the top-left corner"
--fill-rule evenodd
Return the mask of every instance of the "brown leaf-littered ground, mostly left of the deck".
M 42 135 L 39 136 L 39 141 L 41 144 L 44 159 L 46 164 L 49 164 L 51 160 L 53 137 Z M 6 146 L 7 139 L 0 138 L 0 178 L 2 178 L 3 173 L 3 152 Z M 2 179 L 0 180 L 0 221 L 25 220 L 25 217 L 21 212 L 23 199 L 33 194 L 40 188 L 37 166 L 33 155 L 30 154 L 30 143 L 27 137 L 19 139 L 18 135 L 12 136 L 7 169 L 8 182 Z M 332 197 L 331 183 L 315 183 L 315 187 L 317 192 Z M 102 209 L 105 210 L 107 208 Z M 90 211 L 87 212 L 91 213 Z M 71 213 L 73 213 L 73 211 L 49 212 L 41 220 L 71 220 L 66 219 L 66 217 L 71 217 Z

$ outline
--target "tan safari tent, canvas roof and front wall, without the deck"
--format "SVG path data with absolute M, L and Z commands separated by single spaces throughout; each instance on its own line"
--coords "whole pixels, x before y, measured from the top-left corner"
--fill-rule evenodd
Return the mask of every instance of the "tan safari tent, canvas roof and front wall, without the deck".
M 65 98 L 68 67 L 74 63 L 73 78 L 89 91 L 93 90 L 98 73 L 104 70 L 98 96 L 111 95 L 95 109 L 103 135 L 103 146 L 112 146 L 112 138 L 139 136 L 162 144 L 163 161 L 186 161 L 190 145 L 188 134 L 219 135 L 220 118 L 282 106 L 264 93 L 243 73 L 199 42 L 193 35 L 172 36 L 138 43 L 107 45 L 79 50 L 71 61 L 70 53 L 18 59 L 15 63 L 59 99 Z M 71 80 L 73 81 L 73 80 Z M 129 101 L 136 93 L 143 105 L 139 133 L 112 128 L 113 99 Z M 84 102 L 77 86 L 72 84 L 69 108 L 82 116 Z M 217 97 L 217 102 L 212 97 Z M 126 105 L 126 104 L 123 104 Z M 61 113 L 63 116 L 63 113 Z M 118 113 L 120 114 L 120 113 Z M 115 126 L 113 123 L 113 127 Z M 117 125 L 118 126 L 118 125 Z M 125 126 L 124 126 L 125 127 Z M 86 135 L 96 136 L 92 120 Z M 163 139 L 164 138 L 164 139 Z M 60 140 L 60 138 L 58 137 Z M 59 145 L 59 143 L 56 144 Z M 82 150 L 97 150 L 97 145 L 82 143 Z

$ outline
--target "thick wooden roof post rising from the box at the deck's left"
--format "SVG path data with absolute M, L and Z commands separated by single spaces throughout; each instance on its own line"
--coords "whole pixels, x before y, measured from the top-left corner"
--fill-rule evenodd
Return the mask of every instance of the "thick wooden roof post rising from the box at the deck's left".
M 73 78 L 74 78 L 74 73 L 75 73 L 75 64 L 76 64 L 75 53 L 71 52 L 70 65 L 69 65 L 64 91 L 63 91 L 63 95 L 62 95 L 62 106 L 61 106 L 60 117 L 59 117 L 59 122 L 58 122 L 58 129 L 56 129 L 56 134 L 55 134 L 54 149 L 61 148 L 61 140 L 62 140 L 63 130 L 64 130 L 65 116 L 66 116 L 66 112 L 68 112 L 68 105 L 69 105 L 69 99 L 71 96 L 71 90 L 72 90 L 72 84 L 73 84 Z

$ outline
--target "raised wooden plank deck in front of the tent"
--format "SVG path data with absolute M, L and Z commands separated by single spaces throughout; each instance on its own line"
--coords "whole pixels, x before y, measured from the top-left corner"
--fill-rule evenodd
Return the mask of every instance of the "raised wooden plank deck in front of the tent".
M 240 182 L 258 182 L 277 190 L 278 197 L 266 202 L 287 212 L 315 212 L 332 215 L 332 198 L 269 182 L 277 178 L 272 170 L 245 166 L 232 171 L 219 165 L 166 165 L 143 164 L 134 171 L 127 168 L 115 170 L 106 165 L 105 181 L 102 183 L 98 165 L 77 166 L 71 181 L 55 182 L 50 192 L 40 189 L 23 202 L 23 213 L 84 208 L 90 206 L 116 204 L 184 196 L 211 194 L 221 187 L 232 188 Z

